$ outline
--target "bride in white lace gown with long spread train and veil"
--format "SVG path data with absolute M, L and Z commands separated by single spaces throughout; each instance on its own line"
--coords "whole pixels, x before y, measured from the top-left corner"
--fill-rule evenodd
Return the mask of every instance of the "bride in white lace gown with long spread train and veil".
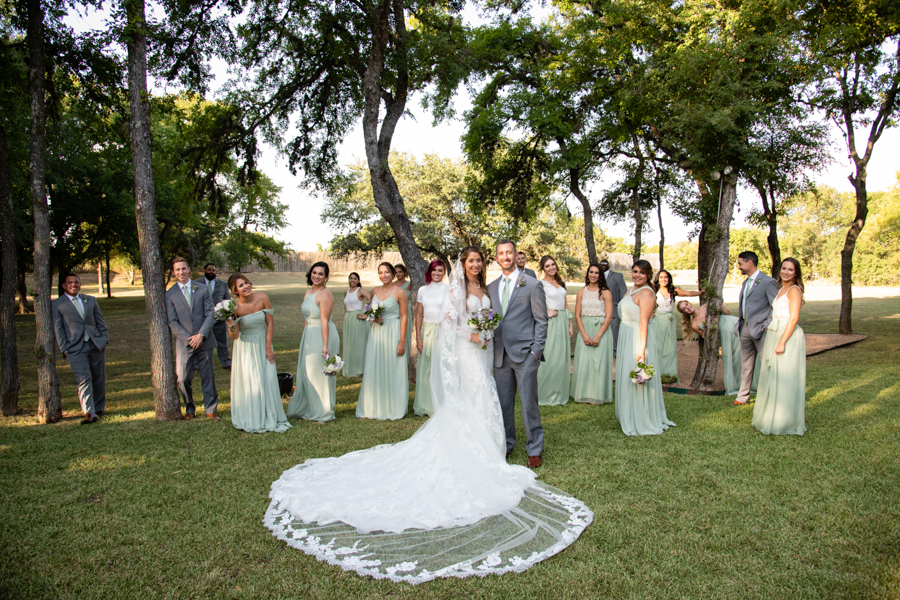
M 265 525 L 346 570 L 421 583 L 524 571 L 570 545 L 593 513 L 508 465 L 493 349 L 468 325 L 490 307 L 478 248 L 460 252 L 441 307 L 435 413 L 408 440 L 311 459 L 272 484 Z

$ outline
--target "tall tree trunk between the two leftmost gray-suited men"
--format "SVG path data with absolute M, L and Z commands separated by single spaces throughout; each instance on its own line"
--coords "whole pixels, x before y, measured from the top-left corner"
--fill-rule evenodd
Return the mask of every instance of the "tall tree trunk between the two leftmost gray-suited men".
M 175 360 L 166 315 L 165 281 L 160 261 L 153 157 L 150 140 L 150 102 L 147 93 L 147 23 L 144 0 L 127 0 L 129 29 L 128 95 L 131 105 L 131 158 L 134 166 L 134 206 L 137 216 L 144 299 L 150 319 L 150 374 L 157 421 L 181 419 L 175 387 Z

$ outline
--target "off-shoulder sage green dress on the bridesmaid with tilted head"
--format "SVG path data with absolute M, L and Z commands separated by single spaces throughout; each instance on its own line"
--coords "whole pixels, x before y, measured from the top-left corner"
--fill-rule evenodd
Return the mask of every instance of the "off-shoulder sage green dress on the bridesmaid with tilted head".
M 241 335 L 231 351 L 231 424 L 250 433 L 290 429 L 278 371 L 266 358 L 266 315 L 271 308 L 238 317 Z

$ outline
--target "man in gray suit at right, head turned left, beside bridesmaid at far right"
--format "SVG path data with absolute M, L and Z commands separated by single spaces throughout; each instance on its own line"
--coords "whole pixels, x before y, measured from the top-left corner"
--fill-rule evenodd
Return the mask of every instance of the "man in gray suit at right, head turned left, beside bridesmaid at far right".
M 738 322 L 734 333 L 741 340 L 741 390 L 735 405 L 750 402 L 756 356 L 766 341 L 766 328 L 772 321 L 772 302 L 778 294 L 778 283 L 757 269 L 759 257 L 755 252 L 738 254 L 738 268 L 747 279 L 741 286 L 738 300 Z

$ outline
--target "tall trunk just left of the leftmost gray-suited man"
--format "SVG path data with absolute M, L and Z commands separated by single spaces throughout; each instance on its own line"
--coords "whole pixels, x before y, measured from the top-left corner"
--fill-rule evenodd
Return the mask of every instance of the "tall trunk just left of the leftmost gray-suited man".
M 31 98 L 29 187 L 34 212 L 34 359 L 38 375 L 38 419 L 62 419 L 59 378 L 56 376 L 56 338 L 50 303 L 50 210 L 44 173 L 44 10 L 40 0 L 28 0 L 28 91 Z

